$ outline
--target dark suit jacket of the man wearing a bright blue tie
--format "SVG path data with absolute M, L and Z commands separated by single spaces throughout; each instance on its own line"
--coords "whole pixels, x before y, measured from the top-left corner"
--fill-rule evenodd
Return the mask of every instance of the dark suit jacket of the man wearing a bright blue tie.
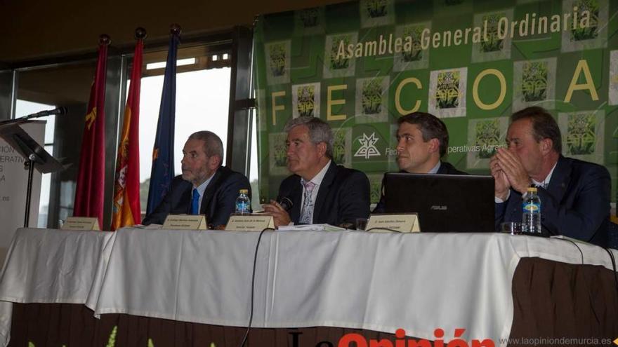
M 210 183 L 206 186 L 202 207 L 199 213 L 206 215 L 206 222 L 210 226 L 228 224 L 230 214 L 235 211 L 236 198 L 240 189 L 249 189 L 251 185 L 244 175 L 232 171 L 225 166 L 218 168 Z M 171 188 L 157 208 L 145 217 L 144 225 L 163 224 L 167 215 L 190 214 L 193 184 L 185 181 L 182 176 L 174 177 Z

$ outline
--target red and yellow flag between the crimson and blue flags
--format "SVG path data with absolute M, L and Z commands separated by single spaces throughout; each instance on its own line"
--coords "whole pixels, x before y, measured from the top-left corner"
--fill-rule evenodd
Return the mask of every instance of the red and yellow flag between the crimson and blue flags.
M 140 224 L 140 84 L 142 78 L 143 39 L 136 43 L 131 70 L 129 97 L 124 108 L 122 135 L 118 145 L 112 230 Z

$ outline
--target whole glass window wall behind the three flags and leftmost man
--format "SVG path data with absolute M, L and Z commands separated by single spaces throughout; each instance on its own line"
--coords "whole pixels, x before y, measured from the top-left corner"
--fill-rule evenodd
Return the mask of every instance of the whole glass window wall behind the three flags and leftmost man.
M 249 29 L 242 29 L 250 34 Z M 242 46 L 244 55 L 248 55 L 250 36 Z M 244 147 L 236 144 L 248 137 L 246 128 L 228 129 L 230 118 L 230 86 L 232 86 L 232 58 L 239 45 L 232 45 L 238 37 L 234 31 L 219 32 L 208 36 L 185 36 L 178 47 L 178 67 L 176 75 L 176 143 L 174 149 L 176 173 L 180 173 L 182 148 L 188 136 L 197 130 L 211 130 L 221 137 L 225 156 L 228 154 L 228 134 L 234 131 L 235 146 L 232 166 L 236 170 L 244 170 L 242 156 Z M 243 41 L 244 42 L 244 41 Z M 152 43 L 152 41 L 150 41 Z M 129 45 L 131 46 L 131 45 Z M 107 81 L 105 98 L 105 206 L 103 228 L 109 227 L 112 215 L 112 190 L 114 184 L 115 158 L 117 151 L 117 130 L 121 128 L 121 116 L 124 114 L 126 95 L 128 91 L 126 79 L 130 69 L 125 62 L 131 62 L 133 47 L 117 47 L 108 51 Z M 144 52 L 140 95 L 140 179 L 142 208 L 145 210 L 148 179 L 152 165 L 152 147 L 154 145 L 159 105 L 161 102 L 164 79 L 164 62 L 167 56 L 166 42 L 162 42 L 156 50 L 148 48 Z M 163 62 L 163 64 L 160 64 Z M 147 64 L 150 65 L 147 69 Z M 157 67 L 156 63 L 159 63 Z M 235 62 L 237 66 L 238 64 Z M 130 68 L 130 67 L 129 67 Z M 7 94 L 15 101 L 11 110 L 15 116 L 24 116 L 36 111 L 53 109 L 55 106 L 67 107 L 68 113 L 63 116 L 48 117 L 46 131 L 46 149 L 55 158 L 60 158 L 65 170 L 54 172 L 43 177 L 39 226 L 55 227 L 59 219 L 72 215 L 76 180 L 79 170 L 79 151 L 84 130 L 84 116 L 90 95 L 93 74 L 96 69 L 96 52 L 84 55 L 55 57 L 49 60 L 38 60 L 32 64 L 24 64 L 11 70 L 11 79 L 5 79 L 6 90 L 15 90 L 15 94 Z M 242 66 L 246 73 L 247 68 Z M 236 76 L 238 81 L 245 81 L 244 76 Z M 1 81 L 1 82 L 4 82 Z M 14 84 L 13 84 L 14 83 Z M 244 82 L 239 82 L 244 83 Z M 3 85 L 4 86 L 4 85 Z M 248 88 L 248 86 L 247 86 Z M 4 92 L 4 90 L 3 90 Z M 5 94 L 1 95 L 5 96 Z M 238 95 L 235 97 L 239 98 Z M 243 96 L 244 97 L 244 96 Z M 119 117 L 120 116 L 120 117 Z M 244 117 L 244 115 L 243 115 Z M 244 118 L 243 118 L 244 121 Z M 242 125 L 243 127 L 248 125 Z M 238 148 L 237 148 L 238 147 Z M 224 158 L 225 163 L 230 158 Z M 247 158 L 244 158 L 245 160 Z M 251 176 L 255 179 L 256 177 Z M 256 195 L 254 193 L 254 199 Z M 47 206 L 47 207 L 46 207 Z M 33 207 L 34 209 L 34 207 Z

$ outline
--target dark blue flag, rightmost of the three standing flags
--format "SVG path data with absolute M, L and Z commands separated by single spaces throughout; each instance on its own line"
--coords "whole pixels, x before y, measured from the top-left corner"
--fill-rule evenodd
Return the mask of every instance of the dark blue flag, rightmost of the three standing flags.
M 178 50 L 178 34 L 171 34 L 169 51 L 163 80 L 161 107 L 159 108 L 159 123 L 155 149 L 152 151 L 152 171 L 150 172 L 150 188 L 148 189 L 148 205 L 146 214 L 157 208 L 169 191 L 174 177 L 173 141 L 174 122 L 176 120 L 176 55 Z

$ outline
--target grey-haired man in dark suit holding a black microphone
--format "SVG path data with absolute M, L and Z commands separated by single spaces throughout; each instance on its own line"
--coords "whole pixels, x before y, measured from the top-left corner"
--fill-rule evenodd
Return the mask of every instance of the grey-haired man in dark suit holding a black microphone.
M 330 126 L 320 118 L 299 117 L 284 130 L 287 168 L 294 175 L 281 183 L 277 201 L 287 198 L 292 204 L 289 210 L 276 201 L 263 205 L 275 226 L 290 222 L 352 226 L 357 218 L 369 217 L 369 179 L 334 163 Z

